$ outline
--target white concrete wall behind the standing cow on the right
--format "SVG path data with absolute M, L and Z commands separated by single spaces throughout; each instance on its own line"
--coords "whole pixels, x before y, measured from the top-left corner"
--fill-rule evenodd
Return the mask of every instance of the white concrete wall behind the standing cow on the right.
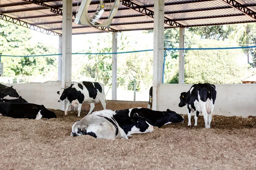
M 187 107 L 180 108 L 180 93 L 189 91 L 192 85 L 160 84 L 158 110 L 169 108 L 180 114 L 187 114 Z M 256 116 L 255 84 L 215 84 L 217 97 L 214 114 L 223 116 Z M 154 99 L 154 97 L 153 97 Z M 192 114 L 194 115 L 194 114 Z

